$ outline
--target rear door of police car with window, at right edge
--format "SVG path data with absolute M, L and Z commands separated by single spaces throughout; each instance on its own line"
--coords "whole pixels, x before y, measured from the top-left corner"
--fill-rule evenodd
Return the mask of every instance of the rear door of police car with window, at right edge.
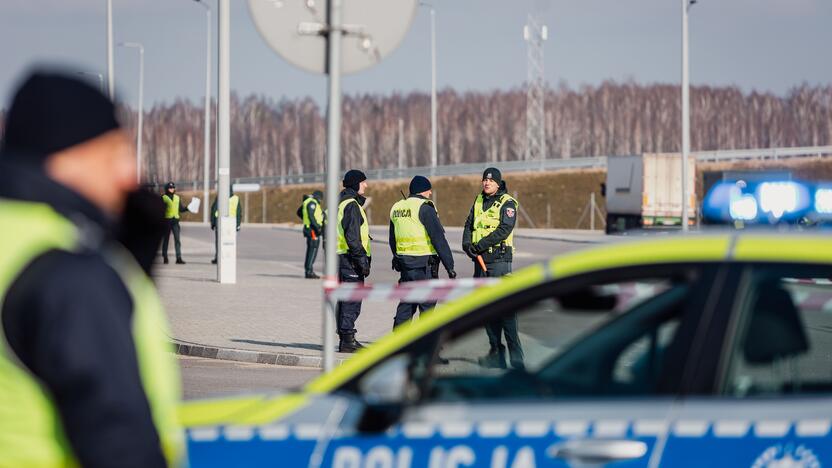
M 662 465 L 832 463 L 832 268 L 740 263 Z

